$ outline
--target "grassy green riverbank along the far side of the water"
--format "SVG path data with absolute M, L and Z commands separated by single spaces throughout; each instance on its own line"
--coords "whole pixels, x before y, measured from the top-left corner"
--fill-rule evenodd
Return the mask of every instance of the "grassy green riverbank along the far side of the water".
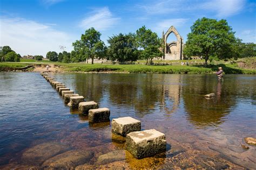
M 28 65 L 34 67 L 22 69 Z M 1 72 L 43 72 L 50 65 L 51 72 L 93 72 L 93 73 L 168 73 L 168 74 L 213 74 L 218 67 L 223 67 L 225 74 L 256 74 L 256 69 L 239 68 L 237 63 L 220 63 L 204 66 L 149 66 L 149 65 L 118 65 L 59 62 L 0 62 Z

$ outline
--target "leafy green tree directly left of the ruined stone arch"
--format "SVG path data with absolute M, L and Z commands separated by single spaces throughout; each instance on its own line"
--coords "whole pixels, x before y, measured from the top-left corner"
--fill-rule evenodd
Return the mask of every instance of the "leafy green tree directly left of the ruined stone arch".
M 140 53 L 140 57 L 146 59 L 147 62 L 150 60 L 150 63 L 152 64 L 153 58 L 163 56 L 163 52 L 161 52 L 160 49 L 161 39 L 158 38 L 157 33 L 152 32 L 150 29 L 146 29 L 145 26 L 136 31 L 136 42 L 138 47 L 143 49 L 142 53 Z

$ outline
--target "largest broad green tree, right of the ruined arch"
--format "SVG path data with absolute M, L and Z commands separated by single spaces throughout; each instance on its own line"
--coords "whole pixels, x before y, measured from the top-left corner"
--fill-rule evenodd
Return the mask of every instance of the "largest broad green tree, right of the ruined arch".
M 210 57 L 224 59 L 234 56 L 232 49 L 236 43 L 234 32 L 226 20 L 204 17 L 191 26 L 183 52 L 188 57 L 199 56 L 205 59 L 207 65 Z

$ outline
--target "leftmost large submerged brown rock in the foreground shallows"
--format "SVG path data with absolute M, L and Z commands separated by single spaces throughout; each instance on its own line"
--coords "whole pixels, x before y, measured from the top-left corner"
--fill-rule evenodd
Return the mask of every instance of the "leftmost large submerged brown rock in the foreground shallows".
M 57 154 L 70 150 L 68 145 L 61 143 L 43 143 L 33 146 L 22 154 L 22 164 L 40 165 Z

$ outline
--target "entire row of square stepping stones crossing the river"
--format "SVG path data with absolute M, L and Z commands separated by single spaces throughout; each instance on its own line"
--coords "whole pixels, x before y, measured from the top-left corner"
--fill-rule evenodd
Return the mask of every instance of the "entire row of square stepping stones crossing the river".
M 98 108 L 96 102 L 85 102 L 83 96 L 74 94 L 64 84 L 55 81 L 48 75 L 43 75 L 47 81 L 64 97 L 65 104 L 78 108 L 80 114 L 87 114 L 89 122 L 110 121 L 110 110 Z M 132 117 L 112 119 L 112 133 L 126 137 L 126 150 L 137 159 L 151 157 L 166 151 L 165 134 L 155 129 L 141 131 L 141 123 Z

